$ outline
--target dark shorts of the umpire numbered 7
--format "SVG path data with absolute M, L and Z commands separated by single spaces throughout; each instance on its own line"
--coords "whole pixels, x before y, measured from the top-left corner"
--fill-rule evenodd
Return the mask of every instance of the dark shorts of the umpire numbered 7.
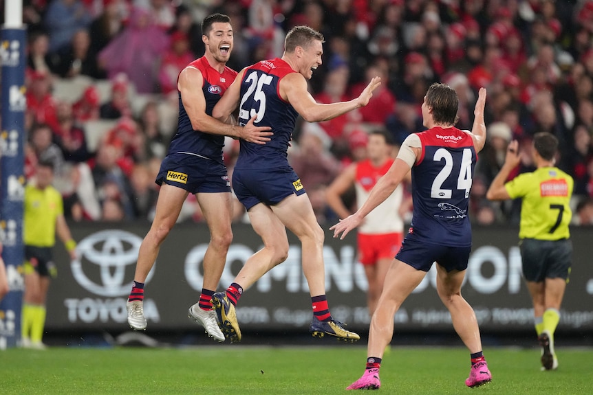
M 523 276 L 527 281 L 542 282 L 546 278 L 568 280 L 572 264 L 572 242 L 563 240 L 535 240 L 519 242 Z

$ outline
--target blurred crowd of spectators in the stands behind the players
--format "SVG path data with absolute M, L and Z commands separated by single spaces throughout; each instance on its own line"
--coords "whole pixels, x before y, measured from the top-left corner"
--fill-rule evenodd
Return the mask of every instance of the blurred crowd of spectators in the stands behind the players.
M 10 0 L 0 0 L 0 12 L 3 1 Z M 294 131 L 290 163 L 320 223 L 336 221 L 325 188 L 365 157 L 367 133 L 385 129 L 400 144 L 424 130 L 424 93 L 444 82 L 459 95 L 461 129 L 471 129 L 477 89 L 488 89 L 488 143 L 473 174 L 473 223 L 518 223 L 519 202 L 490 203 L 484 195 L 507 144 L 517 139 L 521 146 L 515 177 L 533 170 L 532 135 L 548 131 L 561 144 L 557 166 L 574 177 L 573 222 L 593 224 L 593 0 L 23 3 L 25 173 L 32 177 L 40 159 L 53 161 L 69 221 L 151 221 L 155 175 L 177 127 L 177 74 L 204 54 L 204 16 L 222 12 L 233 21 L 228 66 L 237 71 L 282 56 L 285 33 L 309 25 L 325 36 L 323 65 L 310 80 L 318 102 L 350 100 L 370 78 L 382 78 L 365 108 L 319 124 L 299 122 Z M 238 148 L 227 139 L 229 172 Z M 409 188 L 400 209 L 408 220 Z M 344 199 L 354 203 L 354 193 Z M 179 221 L 202 221 L 194 196 Z M 247 221 L 238 202 L 235 221 Z

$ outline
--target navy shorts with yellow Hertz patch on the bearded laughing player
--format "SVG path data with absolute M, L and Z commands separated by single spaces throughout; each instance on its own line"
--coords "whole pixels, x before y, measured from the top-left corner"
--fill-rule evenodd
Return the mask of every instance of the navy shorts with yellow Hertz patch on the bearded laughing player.
M 224 164 L 194 155 L 167 155 L 155 183 L 166 183 L 191 194 L 230 192 L 230 181 Z

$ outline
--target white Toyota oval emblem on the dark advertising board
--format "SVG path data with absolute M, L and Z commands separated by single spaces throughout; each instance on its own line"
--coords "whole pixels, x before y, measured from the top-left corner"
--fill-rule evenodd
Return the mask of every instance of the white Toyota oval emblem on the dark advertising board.
M 136 264 L 140 244 L 142 238 L 123 230 L 110 229 L 91 234 L 78 242 L 78 258 L 70 264 L 72 275 L 78 284 L 97 295 L 127 295 L 132 282 L 126 282 L 126 269 Z M 147 282 L 152 276 L 153 270 Z

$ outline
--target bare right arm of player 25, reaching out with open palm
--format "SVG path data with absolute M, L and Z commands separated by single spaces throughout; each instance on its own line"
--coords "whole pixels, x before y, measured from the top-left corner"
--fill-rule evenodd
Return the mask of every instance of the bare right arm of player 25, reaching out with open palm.
M 315 101 L 308 91 L 307 80 L 298 73 L 291 73 L 280 81 L 280 95 L 287 100 L 297 113 L 307 122 L 321 122 L 331 120 L 342 114 L 369 104 L 373 91 L 381 84 L 381 79 L 375 77 L 369 82 L 358 98 L 348 102 L 320 104 Z

